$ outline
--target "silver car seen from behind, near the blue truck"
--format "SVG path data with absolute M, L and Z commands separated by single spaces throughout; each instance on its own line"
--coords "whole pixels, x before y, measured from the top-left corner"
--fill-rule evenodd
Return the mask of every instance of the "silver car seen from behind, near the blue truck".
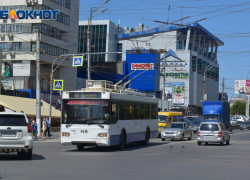
M 206 121 L 201 124 L 197 132 L 198 145 L 201 145 L 201 143 L 220 143 L 220 145 L 224 145 L 224 142 L 230 144 L 230 133 L 222 122 Z

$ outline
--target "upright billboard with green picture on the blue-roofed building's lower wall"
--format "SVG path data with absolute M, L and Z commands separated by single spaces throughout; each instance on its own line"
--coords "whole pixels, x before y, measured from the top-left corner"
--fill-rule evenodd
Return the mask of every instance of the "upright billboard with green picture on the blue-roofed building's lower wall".
M 174 83 L 173 105 L 184 105 L 184 83 Z

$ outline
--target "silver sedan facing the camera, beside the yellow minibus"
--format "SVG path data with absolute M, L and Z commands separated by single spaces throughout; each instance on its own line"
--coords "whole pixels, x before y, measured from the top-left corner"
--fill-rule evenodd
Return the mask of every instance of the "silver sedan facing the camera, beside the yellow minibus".
M 188 140 L 192 139 L 192 130 L 189 129 L 186 122 L 172 122 L 161 132 L 162 141 L 166 139 L 182 141 L 184 138 L 188 138 Z

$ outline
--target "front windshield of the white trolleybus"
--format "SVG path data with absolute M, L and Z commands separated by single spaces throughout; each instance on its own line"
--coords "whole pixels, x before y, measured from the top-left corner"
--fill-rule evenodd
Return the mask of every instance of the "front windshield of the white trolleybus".
M 110 124 L 108 100 L 64 100 L 63 124 Z

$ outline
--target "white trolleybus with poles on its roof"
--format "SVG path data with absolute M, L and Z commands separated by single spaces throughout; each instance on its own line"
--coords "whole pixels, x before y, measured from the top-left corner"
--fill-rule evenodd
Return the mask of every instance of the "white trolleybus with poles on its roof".
M 122 90 L 110 81 L 86 83 L 81 91 L 62 94 L 61 144 L 117 146 L 147 145 L 158 133 L 158 99 Z

